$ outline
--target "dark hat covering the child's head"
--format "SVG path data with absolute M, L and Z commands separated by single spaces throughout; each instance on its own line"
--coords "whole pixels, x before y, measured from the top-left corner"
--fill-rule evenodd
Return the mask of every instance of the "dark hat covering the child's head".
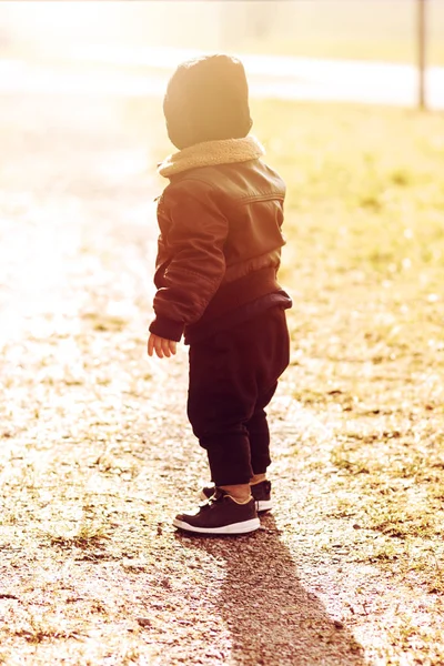
M 168 135 L 182 150 L 250 132 L 249 85 L 243 64 L 230 56 L 205 56 L 182 62 L 163 100 Z

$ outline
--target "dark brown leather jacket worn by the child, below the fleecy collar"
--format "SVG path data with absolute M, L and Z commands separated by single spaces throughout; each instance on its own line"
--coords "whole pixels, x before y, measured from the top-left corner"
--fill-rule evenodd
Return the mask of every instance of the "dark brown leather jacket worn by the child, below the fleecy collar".
M 284 293 L 276 282 L 284 195 L 260 159 L 170 175 L 158 204 L 152 333 L 179 341 L 185 332 L 188 342 L 209 322 Z

